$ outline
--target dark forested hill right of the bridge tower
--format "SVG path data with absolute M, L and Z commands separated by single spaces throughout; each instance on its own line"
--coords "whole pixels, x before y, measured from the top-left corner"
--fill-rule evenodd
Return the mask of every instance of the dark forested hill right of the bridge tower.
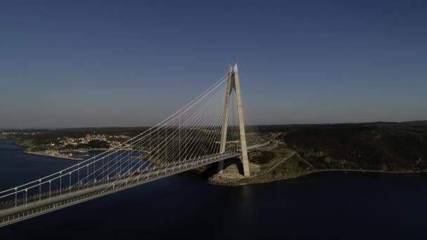
M 427 170 L 427 121 L 263 126 L 318 169 Z

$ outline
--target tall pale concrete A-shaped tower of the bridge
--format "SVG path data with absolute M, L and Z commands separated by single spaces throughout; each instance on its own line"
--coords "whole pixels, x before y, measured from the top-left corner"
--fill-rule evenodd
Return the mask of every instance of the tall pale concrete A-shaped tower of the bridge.
M 242 93 L 240 91 L 240 81 L 239 81 L 239 71 L 237 69 L 237 63 L 234 67 L 228 69 L 228 83 L 227 83 L 227 93 L 225 95 L 225 108 L 223 115 L 223 126 L 221 128 L 221 145 L 220 152 L 225 152 L 225 146 L 227 142 L 227 128 L 228 128 L 228 117 L 230 109 L 230 95 L 235 90 L 236 93 L 236 102 L 237 102 L 237 117 L 239 120 L 239 135 L 240 135 L 240 146 L 242 147 L 242 165 L 243 165 L 243 174 L 246 177 L 251 175 L 249 171 L 249 160 L 248 160 L 248 151 L 246 143 L 246 132 L 244 131 L 244 117 L 242 109 Z M 221 174 L 224 171 L 224 161 L 218 162 L 218 173 Z

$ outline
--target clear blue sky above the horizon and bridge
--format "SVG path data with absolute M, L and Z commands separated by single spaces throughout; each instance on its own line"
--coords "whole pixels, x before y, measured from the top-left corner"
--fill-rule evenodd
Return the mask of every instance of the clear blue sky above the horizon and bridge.
M 1 1 L 0 127 L 155 124 L 233 62 L 256 124 L 427 119 L 427 1 Z

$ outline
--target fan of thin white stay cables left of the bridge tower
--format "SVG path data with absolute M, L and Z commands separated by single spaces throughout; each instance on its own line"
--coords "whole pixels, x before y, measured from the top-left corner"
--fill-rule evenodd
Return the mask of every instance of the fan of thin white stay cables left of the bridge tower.
M 0 208 L 27 206 L 94 188 L 103 192 L 124 182 L 127 185 L 173 172 L 173 169 L 199 166 L 224 154 L 231 156 L 241 152 L 234 92 L 230 98 L 225 152 L 220 152 L 229 81 L 230 74 L 223 76 L 188 105 L 117 147 L 44 178 L 0 192 Z M 256 135 L 254 131 L 251 133 Z M 254 144 L 260 142 L 256 140 Z

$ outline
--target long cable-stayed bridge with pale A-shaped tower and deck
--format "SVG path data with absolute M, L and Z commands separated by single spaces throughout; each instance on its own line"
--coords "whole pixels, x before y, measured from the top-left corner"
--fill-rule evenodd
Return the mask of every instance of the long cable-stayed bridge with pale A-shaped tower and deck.
M 263 142 L 245 127 L 237 65 L 159 124 L 62 171 L 0 192 L 0 227 L 169 175 L 239 157 Z M 254 125 L 252 125 L 254 126 Z M 247 134 L 248 133 L 248 134 Z M 248 136 L 247 136 L 248 135 Z

